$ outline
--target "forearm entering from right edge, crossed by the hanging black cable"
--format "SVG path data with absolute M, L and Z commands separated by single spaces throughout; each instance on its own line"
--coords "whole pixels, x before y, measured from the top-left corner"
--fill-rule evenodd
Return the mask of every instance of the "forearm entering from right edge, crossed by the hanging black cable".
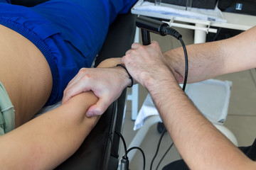
M 187 45 L 188 82 L 202 81 L 221 74 L 255 68 L 256 27 L 233 38 Z M 184 76 L 185 62 L 181 47 L 164 52 L 169 67 Z M 178 80 L 182 83 L 183 79 Z

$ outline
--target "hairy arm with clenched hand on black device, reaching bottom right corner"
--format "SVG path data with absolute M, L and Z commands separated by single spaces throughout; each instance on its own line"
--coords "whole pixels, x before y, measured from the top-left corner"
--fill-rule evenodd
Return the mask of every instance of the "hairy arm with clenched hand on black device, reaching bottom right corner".
M 151 94 L 164 125 L 190 169 L 255 169 L 256 164 L 221 134 L 183 93 L 159 45 L 132 45 L 122 58 Z

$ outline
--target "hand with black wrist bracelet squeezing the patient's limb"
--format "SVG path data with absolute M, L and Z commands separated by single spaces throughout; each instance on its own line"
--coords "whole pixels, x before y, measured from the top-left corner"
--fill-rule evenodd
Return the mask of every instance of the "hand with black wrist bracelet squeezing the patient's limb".
M 77 94 L 93 91 L 99 101 L 88 108 L 86 115 L 102 115 L 130 83 L 127 73 L 120 67 L 82 68 L 66 87 L 63 103 Z

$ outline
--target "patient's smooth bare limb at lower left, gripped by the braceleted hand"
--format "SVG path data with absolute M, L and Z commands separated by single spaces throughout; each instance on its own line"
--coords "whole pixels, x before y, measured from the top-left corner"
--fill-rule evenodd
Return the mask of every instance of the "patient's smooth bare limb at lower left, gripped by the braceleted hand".
M 96 101 L 92 92 L 79 94 L 1 136 L 1 169 L 53 169 L 68 159 L 99 119 L 85 116 Z

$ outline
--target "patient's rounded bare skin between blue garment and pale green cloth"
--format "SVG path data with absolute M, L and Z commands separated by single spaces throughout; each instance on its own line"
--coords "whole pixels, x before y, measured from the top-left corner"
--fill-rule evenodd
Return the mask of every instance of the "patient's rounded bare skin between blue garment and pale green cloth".
M 16 111 L 16 127 L 26 123 L 50 96 L 50 67 L 38 48 L 0 25 L 0 81 Z

